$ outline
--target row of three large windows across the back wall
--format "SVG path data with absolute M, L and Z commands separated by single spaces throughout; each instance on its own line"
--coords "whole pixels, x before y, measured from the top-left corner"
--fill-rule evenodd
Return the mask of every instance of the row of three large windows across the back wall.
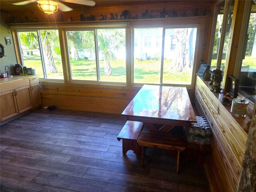
M 19 62 L 52 82 L 192 86 L 200 24 L 143 23 L 132 30 L 124 24 L 18 29 Z

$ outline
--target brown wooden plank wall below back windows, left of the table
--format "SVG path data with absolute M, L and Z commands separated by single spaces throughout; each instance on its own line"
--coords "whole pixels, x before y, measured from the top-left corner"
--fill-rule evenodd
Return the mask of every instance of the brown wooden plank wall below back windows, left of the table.
M 42 82 L 42 105 L 60 109 L 121 114 L 140 86 Z

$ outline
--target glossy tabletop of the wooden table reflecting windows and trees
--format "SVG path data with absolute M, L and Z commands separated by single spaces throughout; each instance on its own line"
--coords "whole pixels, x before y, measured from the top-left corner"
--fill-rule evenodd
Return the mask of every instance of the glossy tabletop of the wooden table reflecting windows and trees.
M 122 115 L 196 122 L 186 87 L 144 85 Z

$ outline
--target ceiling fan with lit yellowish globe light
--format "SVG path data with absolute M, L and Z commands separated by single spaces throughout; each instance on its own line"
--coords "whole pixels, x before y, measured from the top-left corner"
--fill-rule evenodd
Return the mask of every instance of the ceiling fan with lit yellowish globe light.
M 95 2 L 92 0 L 26 0 L 21 1 L 17 3 L 12 3 L 14 5 L 26 5 L 30 3 L 38 3 L 38 7 L 40 10 L 44 11 L 48 15 L 53 14 L 58 9 L 61 11 L 71 11 L 73 10 L 69 6 L 66 6 L 62 2 L 68 2 L 68 3 L 74 3 L 74 4 L 81 4 L 81 5 L 87 5 L 87 6 L 94 6 Z

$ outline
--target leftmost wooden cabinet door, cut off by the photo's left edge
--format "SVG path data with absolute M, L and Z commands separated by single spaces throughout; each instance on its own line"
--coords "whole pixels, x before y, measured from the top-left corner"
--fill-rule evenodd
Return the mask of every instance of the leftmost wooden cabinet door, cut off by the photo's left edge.
M 14 90 L 0 94 L 0 121 L 18 115 L 17 102 Z

